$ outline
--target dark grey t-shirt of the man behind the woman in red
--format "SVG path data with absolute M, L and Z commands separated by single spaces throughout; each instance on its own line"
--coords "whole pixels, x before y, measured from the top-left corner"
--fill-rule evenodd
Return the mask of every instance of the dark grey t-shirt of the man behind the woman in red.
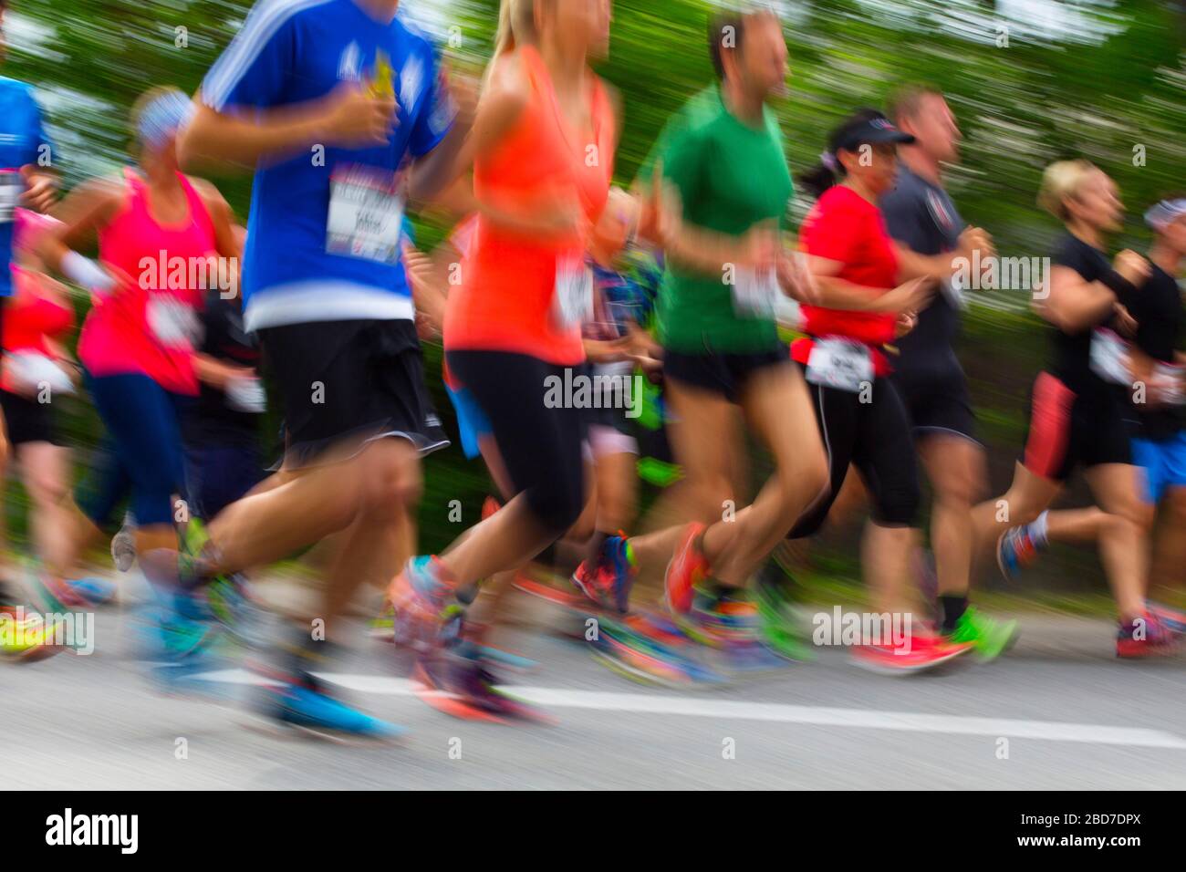
M 954 252 L 959 243 L 964 221 L 948 192 L 905 166 L 899 166 L 894 190 L 880 205 L 890 235 L 918 254 Z M 898 340 L 901 356 L 895 368 L 914 369 L 955 358 L 952 344 L 958 330 L 959 310 L 945 288 L 918 313 L 914 329 Z

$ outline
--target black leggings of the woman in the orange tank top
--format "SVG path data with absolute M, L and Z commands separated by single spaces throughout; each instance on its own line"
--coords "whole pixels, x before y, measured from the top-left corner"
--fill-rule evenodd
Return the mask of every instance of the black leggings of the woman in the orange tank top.
M 585 364 L 560 367 L 510 351 L 448 351 L 449 373 L 465 386 L 490 420 L 498 453 L 516 494 L 549 533 L 560 536 L 585 508 L 586 410 L 570 402 L 546 403 L 549 377 L 565 384 Z

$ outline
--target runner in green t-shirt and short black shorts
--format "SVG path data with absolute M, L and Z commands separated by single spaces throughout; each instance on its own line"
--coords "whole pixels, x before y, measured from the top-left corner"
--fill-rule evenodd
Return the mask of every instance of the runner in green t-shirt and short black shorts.
M 786 43 L 769 11 L 713 15 L 709 52 L 719 83 L 672 117 L 651 158 L 665 272 L 657 306 L 664 400 L 675 459 L 687 477 L 683 528 L 610 536 L 578 569 L 598 603 L 624 609 L 636 567 L 670 559 L 668 606 L 733 666 L 769 666 L 766 643 L 797 654 L 785 628 L 746 593 L 751 572 L 825 490 L 825 457 L 810 396 L 779 340 L 780 228 L 793 193 L 783 134 L 770 103 L 786 91 Z M 665 201 L 676 201 L 662 205 Z M 644 223 L 646 223 L 644 221 Z M 740 415 L 770 448 L 774 473 L 740 509 Z M 715 521 L 715 523 L 714 523 Z M 672 556 L 674 554 L 674 556 Z M 659 663 L 665 670 L 669 664 Z

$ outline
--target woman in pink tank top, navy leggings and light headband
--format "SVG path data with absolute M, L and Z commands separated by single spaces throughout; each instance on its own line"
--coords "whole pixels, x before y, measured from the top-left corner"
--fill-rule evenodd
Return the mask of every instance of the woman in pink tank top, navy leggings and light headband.
M 114 453 L 104 492 L 81 501 L 78 534 L 46 558 L 42 583 L 58 591 L 75 555 L 115 520 L 117 497 L 130 491 L 141 555 L 176 552 L 174 522 L 187 515 L 174 503 L 184 494 L 178 408 L 198 390 L 197 312 L 208 288 L 237 293 L 240 255 L 227 202 L 178 168 L 177 131 L 190 112 L 177 89 L 141 96 L 138 165 L 74 191 L 62 227 L 38 246 L 49 268 L 93 292 L 78 358 Z M 94 240 L 97 263 L 78 252 Z

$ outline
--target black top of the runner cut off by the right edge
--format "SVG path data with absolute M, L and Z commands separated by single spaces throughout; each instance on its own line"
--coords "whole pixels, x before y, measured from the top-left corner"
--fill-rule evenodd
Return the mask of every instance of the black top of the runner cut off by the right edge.
M 1148 281 L 1133 294 L 1129 305 L 1137 322 L 1133 344 L 1153 359 L 1171 363 L 1186 338 L 1186 313 L 1174 276 L 1156 263 L 1152 267 Z M 1143 439 L 1167 439 L 1186 426 L 1186 407 L 1137 403 L 1135 408 L 1136 433 Z

